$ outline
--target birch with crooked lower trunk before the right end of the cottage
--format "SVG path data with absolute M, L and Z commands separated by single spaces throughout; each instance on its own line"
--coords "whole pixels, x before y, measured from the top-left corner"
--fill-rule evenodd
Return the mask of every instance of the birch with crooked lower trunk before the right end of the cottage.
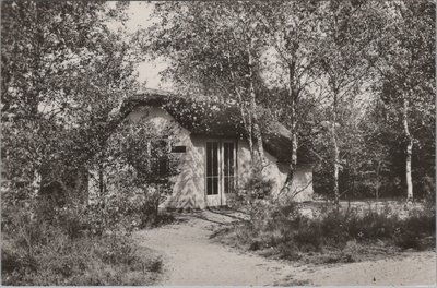
M 269 7 L 259 7 L 257 15 L 265 28 L 267 45 L 280 59 L 280 71 L 270 72 L 282 77 L 280 86 L 287 92 L 285 98 L 272 100 L 279 103 L 275 108 L 292 132 L 291 182 L 297 165 L 298 101 L 311 94 L 310 87 L 319 76 L 314 67 L 320 37 L 320 4 L 312 1 L 272 2 Z

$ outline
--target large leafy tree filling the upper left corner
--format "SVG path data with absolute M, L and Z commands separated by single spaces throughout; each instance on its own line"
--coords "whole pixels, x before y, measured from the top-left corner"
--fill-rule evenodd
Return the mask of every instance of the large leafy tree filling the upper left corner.
M 108 28 L 126 7 L 1 3 L 2 163 L 12 183 L 63 184 L 110 133 L 135 87 L 134 45 Z

